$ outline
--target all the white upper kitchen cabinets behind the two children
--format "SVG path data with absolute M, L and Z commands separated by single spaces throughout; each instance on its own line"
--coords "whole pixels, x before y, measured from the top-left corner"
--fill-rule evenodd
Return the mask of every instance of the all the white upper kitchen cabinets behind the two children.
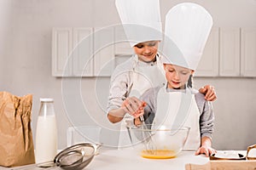
M 110 77 L 133 53 L 122 26 L 54 28 L 52 75 Z M 213 27 L 195 77 L 256 77 L 256 29 Z

